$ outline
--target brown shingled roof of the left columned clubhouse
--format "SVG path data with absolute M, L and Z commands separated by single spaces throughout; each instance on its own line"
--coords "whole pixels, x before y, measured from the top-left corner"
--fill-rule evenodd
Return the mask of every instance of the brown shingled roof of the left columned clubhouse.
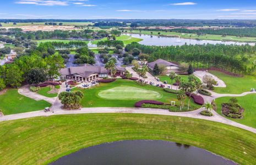
M 92 74 L 107 74 L 107 69 L 101 66 L 83 65 L 81 67 L 70 67 L 59 70 L 61 75 L 74 75 L 78 74 L 84 78 L 88 78 Z

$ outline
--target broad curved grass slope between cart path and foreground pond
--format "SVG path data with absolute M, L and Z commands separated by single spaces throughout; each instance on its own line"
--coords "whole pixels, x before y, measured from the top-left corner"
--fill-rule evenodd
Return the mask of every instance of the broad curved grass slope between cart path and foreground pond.
M 47 164 L 85 147 L 165 140 L 256 164 L 256 134 L 207 120 L 150 114 L 76 114 L 0 123 L 0 164 Z

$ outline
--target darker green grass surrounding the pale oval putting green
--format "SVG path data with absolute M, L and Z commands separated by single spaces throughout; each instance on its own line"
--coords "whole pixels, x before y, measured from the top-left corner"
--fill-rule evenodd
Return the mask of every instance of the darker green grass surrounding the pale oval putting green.
M 155 99 L 156 101 L 161 101 L 165 103 L 171 103 L 171 101 L 176 101 L 176 105 L 179 105 L 179 101 L 177 100 L 177 96 L 175 94 L 170 94 L 168 92 L 165 92 L 162 88 L 156 87 L 156 86 L 151 86 L 151 85 L 146 85 L 146 86 L 141 86 L 135 81 L 132 80 L 124 80 L 124 79 L 117 79 L 113 83 L 101 83 L 100 86 L 93 87 L 91 89 L 84 89 L 81 90 L 84 93 L 84 98 L 81 101 L 81 105 L 83 107 L 134 107 L 135 102 L 141 101 L 141 100 L 147 100 L 148 96 L 144 95 L 141 96 L 139 99 L 134 98 L 134 99 L 105 99 L 99 96 L 99 93 L 102 93 L 106 90 L 112 90 L 115 87 L 120 87 L 120 86 L 128 86 L 132 89 L 134 87 L 136 90 L 146 90 L 146 91 L 152 91 L 152 92 L 157 92 L 161 96 Z M 80 89 L 76 89 L 80 90 Z M 118 89 L 119 90 L 119 89 Z M 112 93 L 113 94 L 113 93 Z M 118 92 L 118 96 L 123 95 L 122 97 L 126 97 L 125 95 L 133 95 L 134 91 L 129 91 L 129 92 Z M 120 96 L 121 97 L 121 96 Z M 186 103 L 188 100 L 186 101 Z M 193 100 L 190 101 L 191 105 L 194 108 L 199 108 L 200 106 L 195 105 Z

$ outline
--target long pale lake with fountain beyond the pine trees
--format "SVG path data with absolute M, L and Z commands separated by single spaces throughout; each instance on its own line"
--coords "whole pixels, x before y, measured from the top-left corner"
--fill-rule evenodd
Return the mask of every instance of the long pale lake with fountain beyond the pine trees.
M 185 38 L 177 38 L 177 37 L 158 37 L 158 36 L 150 36 L 150 35 L 140 35 L 140 34 L 125 34 L 135 38 L 141 38 L 143 41 L 139 43 L 142 45 L 148 46 L 182 46 L 187 43 L 187 45 L 203 45 L 203 44 L 225 44 L 225 45 L 244 45 L 246 42 L 232 42 L 232 41 L 213 41 L 213 40 L 194 40 L 194 39 L 185 39 Z M 255 43 L 249 43 L 249 45 L 255 45 Z

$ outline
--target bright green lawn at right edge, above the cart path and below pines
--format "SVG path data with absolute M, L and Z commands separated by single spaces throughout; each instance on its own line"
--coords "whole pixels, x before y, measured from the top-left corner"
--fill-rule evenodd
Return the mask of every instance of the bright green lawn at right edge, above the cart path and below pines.
M 227 87 L 215 87 L 214 91 L 220 94 L 241 94 L 250 91 L 251 88 L 256 89 L 256 77 L 245 75 L 242 78 L 230 76 L 222 72 L 209 71 L 223 80 Z

